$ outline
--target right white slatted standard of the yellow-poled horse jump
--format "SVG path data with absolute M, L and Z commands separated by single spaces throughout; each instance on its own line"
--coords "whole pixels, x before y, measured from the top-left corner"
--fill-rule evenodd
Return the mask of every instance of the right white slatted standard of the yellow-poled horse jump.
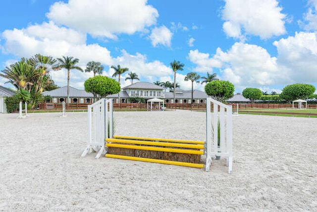
M 211 112 L 213 103 L 213 112 Z M 206 171 L 209 171 L 211 157 L 224 156 L 227 159 L 228 172 L 232 172 L 232 106 L 225 105 L 210 97 L 206 102 Z M 212 114 L 212 115 L 211 115 Z M 219 124 L 218 124 L 219 122 Z M 220 140 L 218 146 L 218 128 Z M 213 138 L 212 136 L 213 135 Z

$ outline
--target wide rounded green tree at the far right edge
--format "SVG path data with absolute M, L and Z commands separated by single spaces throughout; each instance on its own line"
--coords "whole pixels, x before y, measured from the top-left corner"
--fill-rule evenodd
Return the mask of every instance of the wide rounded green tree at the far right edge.
M 291 84 L 283 88 L 280 98 L 291 102 L 297 99 L 311 98 L 316 88 L 311 84 Z

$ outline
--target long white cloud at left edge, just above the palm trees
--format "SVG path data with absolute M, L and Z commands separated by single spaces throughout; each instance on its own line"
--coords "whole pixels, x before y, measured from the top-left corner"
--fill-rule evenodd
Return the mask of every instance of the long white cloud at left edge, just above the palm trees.
M 86 36 L 65 27 L 50 23 L 31 25 L 26 29 L 5 30 L 2 33 L 6 53 L 17 57 L 32 57 L 35 54 L 53 57 L 72 56 L 80 59 L 85 66 L 96 60 L 110 65 L 110 52 L 98 44 L 86 45 Z

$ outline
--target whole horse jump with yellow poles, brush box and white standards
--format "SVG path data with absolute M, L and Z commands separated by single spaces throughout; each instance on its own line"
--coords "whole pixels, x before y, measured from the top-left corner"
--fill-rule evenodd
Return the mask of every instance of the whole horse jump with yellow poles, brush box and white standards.
M 206 171 L 209 171 L 212 158 L 217 155 L 226 158 L 228 173 L 232 172 L 232 106 L 207 98 L 206 141 L 113 136 L 112 107 L 112 99 L 101 99 L 88 106 L 90 139 L 82 156 L 95 150 L 98 151 L 96 158 L 106 152 L 106 157 L 205 167 Z M 213 126 L 218 126 L 218 122 L 220 145 L 217 141 L 218 131 L 213 130 Z M 200 162 L 203 154 L 207 158 L 205 164 Z

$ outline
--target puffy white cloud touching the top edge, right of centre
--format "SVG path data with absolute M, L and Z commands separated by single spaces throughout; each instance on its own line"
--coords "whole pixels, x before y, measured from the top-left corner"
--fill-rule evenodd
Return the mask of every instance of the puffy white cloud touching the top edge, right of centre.
M 267 39 L 285 34 L 282 8 L 276 0 L 224 0 L 222 19 L 227 36 L 244 38 L 244 34 Z

